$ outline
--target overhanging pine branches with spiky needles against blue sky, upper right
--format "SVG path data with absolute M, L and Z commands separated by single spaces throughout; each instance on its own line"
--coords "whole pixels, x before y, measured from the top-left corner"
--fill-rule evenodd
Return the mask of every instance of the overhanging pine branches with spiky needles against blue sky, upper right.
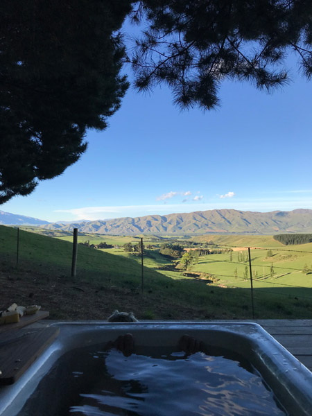
M 268 91 L 285 85 L 288 53 L 297 53 L 308 79 L 312 74 L 307 0 L 142 0 L 133 13 L 140 18 L 149 28 L 130 58 L 136 86 L 165 83 L 180 107 L 216 107 L 223 80 Z

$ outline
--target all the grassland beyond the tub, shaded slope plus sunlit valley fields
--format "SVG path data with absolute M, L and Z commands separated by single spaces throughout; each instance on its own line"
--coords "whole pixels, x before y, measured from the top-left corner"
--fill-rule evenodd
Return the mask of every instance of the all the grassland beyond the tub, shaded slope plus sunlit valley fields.
M 232 261 L 229 252 L 202 256 L 198 264 L 190 267 L 190 272 L 214 275 L 218 279 L 214 284 L 185 277 L 173 268 L 170 259 L 157 250 L 147 250 L 142 293 L 141 258 L 134 253 L 122 248 L 95 250 L 78 245 L 77 275 L 71 279 L 72 237 L 58 233 L 51 238 L 31 231 L 20 230 L 17 267 L 17 230 L 0 226 L 1 306 L 9 302 L 37 303 L 49 309 L 51 318 L 70 319 L 103 319 L 114 309 L 132 310 L 139 319 L 252 318 L 250 280 L 243 279 L 248 263 L 238 261 L 239 253 L 246 250 L 232 252 Z M 79 239 L 90 243 L 106 241 L 119 247 L 127 241 L 139 241 L 94 234 L 84 234 Z M 198 239 L 205 243 L 207 236 Z M 312 264 L 311 243 L 288 245 L 285 250 L 291 251 L 286 252 L 277 251 L 284 250 L 284 246 L 272 236 L 212 236 L 208 240 L 211 239 L 241 248 L 272 248 L 269 258 L 268 250 L 251 250 L 252 270 L 258 272 L 254 280 L 254 318 L 312 318 L 312 274 L 302 273 L 304 264 Z M 275 274 L 271 277 L 272 263 Z

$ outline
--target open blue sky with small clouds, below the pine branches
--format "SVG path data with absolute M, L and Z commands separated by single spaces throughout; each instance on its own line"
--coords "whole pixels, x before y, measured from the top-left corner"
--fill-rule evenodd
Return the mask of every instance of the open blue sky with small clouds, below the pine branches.
M 181 112 L 171 92 L 129 89 L 87 153 L 3 211 L 49 221 L 206 209 L 312 209 L 312 83 L 273 94 L 226 81 L 218 110 Z

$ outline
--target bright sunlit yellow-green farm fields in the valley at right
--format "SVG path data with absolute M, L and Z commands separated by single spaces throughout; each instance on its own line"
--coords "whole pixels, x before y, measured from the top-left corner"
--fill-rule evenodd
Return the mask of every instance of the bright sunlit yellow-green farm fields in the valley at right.
M 233 246 L 234 251 L 200 256 L 198 263 L 189 266 L 187 271 L 194 274 L 212 275 L 216 280 L 214 283 L 216 286 L 250 288 L 249 258 L 248 250 L 245 248 L 245 245 L 248 245 L 248 239 L 249 237 L 245 236 L 236 238 L 232 236 L 231 239 L 225 239 L 222 236 L 214 237 L 214 243 L 220 244 L 221 249 L 230 250 L 230 246 Z M 280 294 L 304 298 L 307 293 L 310 293 L 309 289 L 312 289 L 312 243 L 283 247 L 271 236 L 254 236 L 250 240 L 250 243 L 257 245 L 257 248 L 250 250 L 253 288 L 257 292 L 263 291 L 268 297 Z M 225 241 L 226 244 L 223 245 L 219 241 Z M 269 249 L 271 250 L 270 257 L 268 257 Z M 129 255 L 122 248 L 104 251 L 124 257 Z M 243 257 L 243 261 L 239 261 L 239 257 Z M 162 263 L 168 263 L 168 259 L 157 255 L 157 250 L 153 251 L 152 259 L 150 257 L 144 259 L 144 265 L 150 268 L 158 268 Z M 246 267 L 248 268 L 247 279 L 244 278 Z M 159 270 L 159 272 L 173 279 L 183 277 L 180 270 Z

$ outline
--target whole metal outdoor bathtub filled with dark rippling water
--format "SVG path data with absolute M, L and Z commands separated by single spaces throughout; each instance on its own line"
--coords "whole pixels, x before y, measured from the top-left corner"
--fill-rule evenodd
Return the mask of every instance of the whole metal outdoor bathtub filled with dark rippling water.
M 312 415 L 312 373 L 258 324 L 52 325 L 58 338 L 15 384 L 0 388 L 1 416 Z M 125 333 L 135 338 L 135 354 L 105 352 Z M 205 343 L 205 354 L 178 352 L 184 334 Z

